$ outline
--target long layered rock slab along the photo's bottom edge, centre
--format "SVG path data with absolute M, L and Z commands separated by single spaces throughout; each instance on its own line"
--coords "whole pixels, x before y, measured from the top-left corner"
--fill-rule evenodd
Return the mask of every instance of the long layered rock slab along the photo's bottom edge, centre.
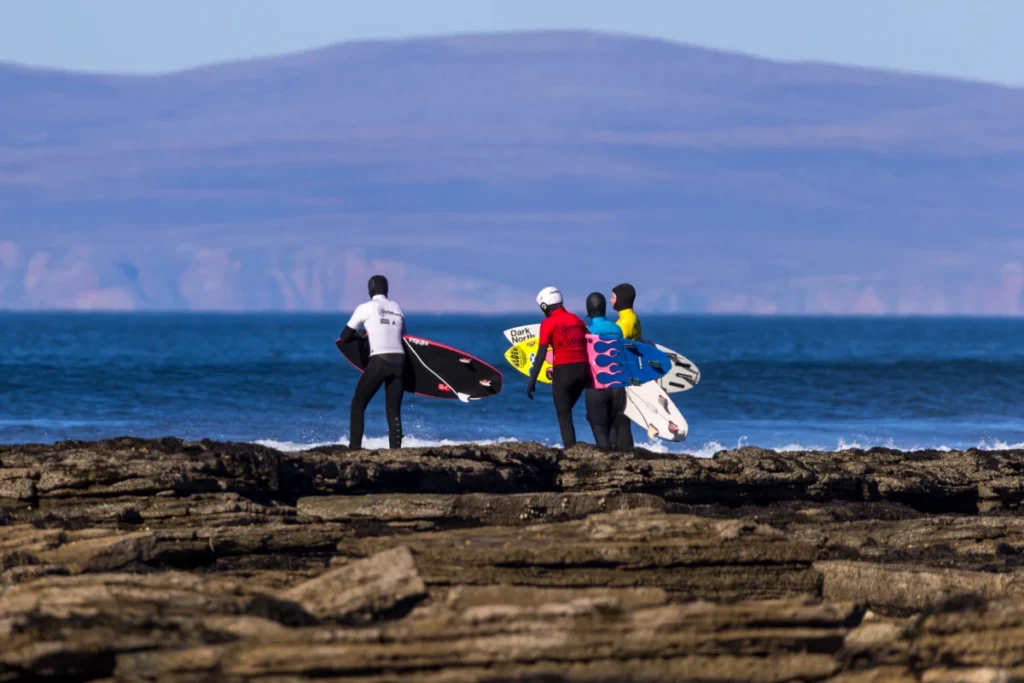
M 116 678 L 622 680 L 643 673 L 665 680 L 697 671 L 709 680 L 816 680 L 840 668 L 836 654 L 855 618 L 849 605 L 804 601 L 477 605 L 371 631 L 296 629 L 215 649 L 128 654 L 118 659 Z

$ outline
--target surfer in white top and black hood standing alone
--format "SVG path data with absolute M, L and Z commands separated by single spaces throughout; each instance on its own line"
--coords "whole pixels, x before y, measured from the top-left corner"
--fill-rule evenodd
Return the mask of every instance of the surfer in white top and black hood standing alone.
M 401 397 L 404 392 L 406 316 L 395 302 L 387 298 L 388 285 L 384 275 L 370 279 L 367 289 L 370 301 L 359 304 L 341 333 L 340 343 L 357 339 L 359 328 L 370 338 L 370 361 L 352 394 L 348 445 L 362 447 L 364 414 L 377 391 L 384 387 L 387 412 L 388 444 L 401 447 Z

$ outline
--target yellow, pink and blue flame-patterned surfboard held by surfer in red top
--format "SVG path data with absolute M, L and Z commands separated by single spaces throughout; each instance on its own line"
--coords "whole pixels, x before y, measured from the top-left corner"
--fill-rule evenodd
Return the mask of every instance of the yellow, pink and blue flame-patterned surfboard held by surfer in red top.
M 537 337 L 525 339 L 506 351 L 505 359 L 528 377 L 539 346 Z M 598 389 L 641 386 L 664 377 L 666 369 L 672 365 L 669 357 L 653 346 L 614 337 L 587 335 L 587 354 L 594 386 Z M 543 364 L 538 380 L 551 384 L 550 350 Z

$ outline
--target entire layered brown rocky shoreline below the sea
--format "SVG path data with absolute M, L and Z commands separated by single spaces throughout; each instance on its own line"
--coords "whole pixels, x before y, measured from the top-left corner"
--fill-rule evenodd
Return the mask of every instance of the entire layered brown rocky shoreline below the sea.
M 0 681 L 1024 677 L 1024 451 L 0 445 Z

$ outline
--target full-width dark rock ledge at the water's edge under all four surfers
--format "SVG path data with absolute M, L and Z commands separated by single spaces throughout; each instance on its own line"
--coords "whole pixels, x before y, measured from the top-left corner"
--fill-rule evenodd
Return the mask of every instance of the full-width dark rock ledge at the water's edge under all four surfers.
M 731 507 L 888 502 L 929 513 L 1013 510 L 1024 501 L 1019 451 L 778 454 L 748 447 L 696 459 L 508 443 L 284 454 L 243 443 L 124 438 L 7 446 L 0 462 L 8 477 L 0 485 L 22 482 L 11 484 L 20 500 L 233 493 L 294 505 L 302 497 L 338 494 L 608 492 Z

